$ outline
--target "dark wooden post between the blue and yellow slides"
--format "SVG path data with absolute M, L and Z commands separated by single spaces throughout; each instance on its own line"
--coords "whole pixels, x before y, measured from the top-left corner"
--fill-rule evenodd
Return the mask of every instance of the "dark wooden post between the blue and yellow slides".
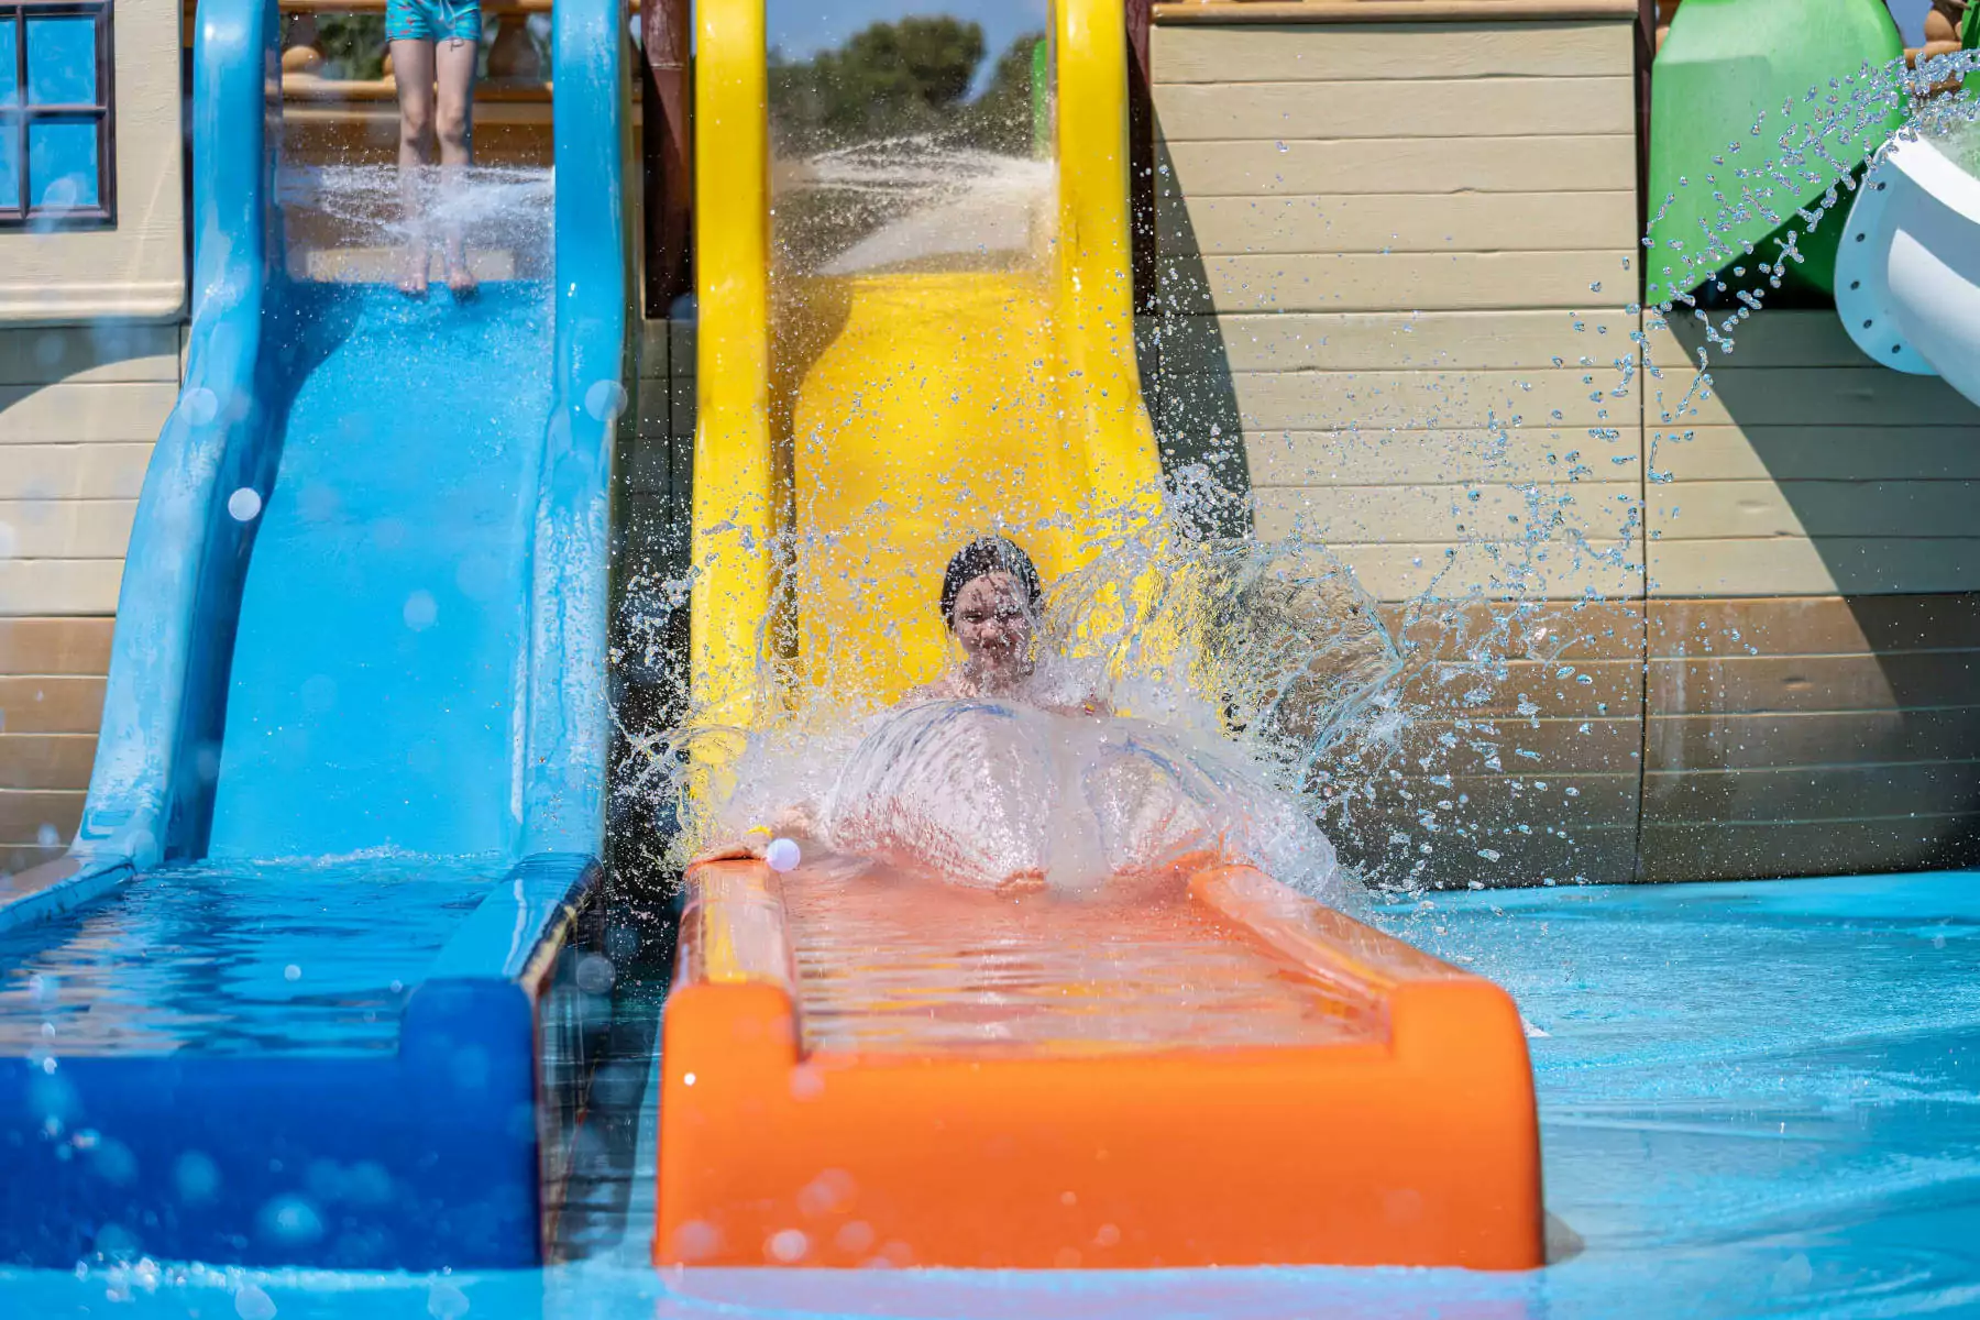
M 644 117 L 645 315 L 663 319 L 695 287 L 695 135 L 689 0 L 640 0 Z

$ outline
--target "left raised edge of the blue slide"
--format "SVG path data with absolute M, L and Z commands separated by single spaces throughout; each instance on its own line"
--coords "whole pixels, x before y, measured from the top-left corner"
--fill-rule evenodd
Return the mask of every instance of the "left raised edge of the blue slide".
M 273 0 L 206 0 L 194 32 L 192 329 L 125 554 L 97 760 L 65 857 L 0 881 L 0 930 L 81 906 L 170 855 L 188 734 L 214 728 L 251 524 L 226 513 L 265 455 L 261 323 L 279 297 L 281 220 L 263 93 L 279 63 Z M 234 166 L 234 168 L 226 168 Z M 251 166 L 251 168 L 248 168 Z

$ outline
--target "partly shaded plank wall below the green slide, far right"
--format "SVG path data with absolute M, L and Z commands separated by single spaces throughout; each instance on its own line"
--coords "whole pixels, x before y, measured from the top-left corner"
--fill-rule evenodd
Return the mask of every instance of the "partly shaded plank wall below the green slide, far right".
M 1709 392 L 1703 342 L 1649 334 L 1643 875 L 1980 861 L 1980 408 L 1832 311 L 1738 327 Z

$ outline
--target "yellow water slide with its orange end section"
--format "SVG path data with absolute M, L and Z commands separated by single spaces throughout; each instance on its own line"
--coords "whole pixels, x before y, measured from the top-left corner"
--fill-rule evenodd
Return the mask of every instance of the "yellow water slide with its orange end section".
M 695 707 L 760 728 L 786 633 L 826 691 L 935 677 L 935 584 L 988 517 L 962 457 L 1016 515 L 1065 515 L 1026 532 L 1047 576 L 1156 509 L 1127 55 L 1121 0 L 1057 0 L 1038 271 L 790 281 L 820 342 L 778 376 L 762 0 L 695 12 Z M 794 520 L 826 570 L 780 594 Z M 1540 1265 L 1513 1001 L 1253 869 L 1012 896 L 822 855 L 699 865 L 687 891 L 661 1265 Z

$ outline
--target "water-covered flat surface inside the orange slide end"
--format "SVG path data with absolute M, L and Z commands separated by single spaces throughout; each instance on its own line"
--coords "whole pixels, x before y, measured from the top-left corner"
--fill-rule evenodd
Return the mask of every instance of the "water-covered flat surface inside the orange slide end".
M 784 881 L 806 1051 L 1091 1055 L 1378 1039 L 1180 881 L 1004 896 L 808 865 Z

